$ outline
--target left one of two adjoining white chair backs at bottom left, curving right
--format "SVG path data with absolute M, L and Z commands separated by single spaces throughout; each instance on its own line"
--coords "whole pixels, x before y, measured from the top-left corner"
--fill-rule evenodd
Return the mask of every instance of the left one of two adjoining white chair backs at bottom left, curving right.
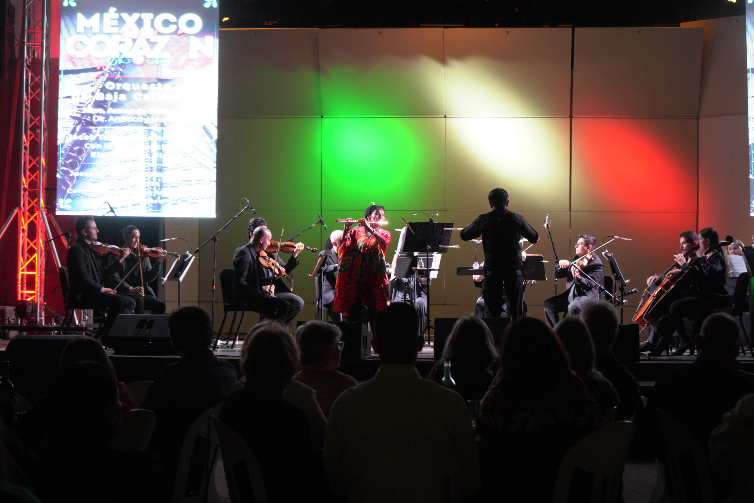
M 210 422 L 217 416 L 222 402 L 216 403 L 199 416 L 183 439 L 181 456 L 173 486 L 173 503 L 202 503 L 207 501 L 208 480 L 213 480 L 218 445 Z

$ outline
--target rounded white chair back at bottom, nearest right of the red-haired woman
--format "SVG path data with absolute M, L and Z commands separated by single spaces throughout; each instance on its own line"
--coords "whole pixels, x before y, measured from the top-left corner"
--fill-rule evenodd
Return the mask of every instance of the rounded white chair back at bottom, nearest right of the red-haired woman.
M 554 503 L 618 503 L 628 448 L 636 425 L 611 423 L 579 440 L 563 457 Z

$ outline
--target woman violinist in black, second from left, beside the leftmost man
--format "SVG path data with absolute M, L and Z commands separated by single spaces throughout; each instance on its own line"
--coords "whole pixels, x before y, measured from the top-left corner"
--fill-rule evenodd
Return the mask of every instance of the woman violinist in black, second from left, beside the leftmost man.
M 144 314 L 149 309 L 152 314 L 165 314 L 165 303 L 155 296 L 155 291 L 149 286 L 160 275 L 162 262 L 167 256 L 165 250 L 158 248 L 158 257 L 155 262 L 149 256 L 144 256 L 139 265 L 139 250 L 145 247 L 141 244 L 141 233 L 135 225 L 127 225 L 122 231 L 123 248 L 130 253 L 121 262 L 120 270 L 115 272 L 115 283 L 121 283 L 118 291 L 121 295 L 130 297 L 136 302 L 133 314 Z M 115 260 L 113 257 L 111 260 Z

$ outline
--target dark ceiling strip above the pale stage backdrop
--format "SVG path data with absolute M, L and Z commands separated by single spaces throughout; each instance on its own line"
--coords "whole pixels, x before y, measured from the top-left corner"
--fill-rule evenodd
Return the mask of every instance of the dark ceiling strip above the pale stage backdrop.
M 744 14 L 746 0 L 222 0 L 224 28 L 677 26 Z

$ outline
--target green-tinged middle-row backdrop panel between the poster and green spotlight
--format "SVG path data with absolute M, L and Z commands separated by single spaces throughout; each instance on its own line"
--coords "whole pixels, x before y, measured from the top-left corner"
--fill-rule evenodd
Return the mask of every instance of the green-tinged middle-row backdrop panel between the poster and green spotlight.
M 219 130 L 218 210 L 245 197 L 256 210 L 317 213 L 321 118 L 221 118 Z

